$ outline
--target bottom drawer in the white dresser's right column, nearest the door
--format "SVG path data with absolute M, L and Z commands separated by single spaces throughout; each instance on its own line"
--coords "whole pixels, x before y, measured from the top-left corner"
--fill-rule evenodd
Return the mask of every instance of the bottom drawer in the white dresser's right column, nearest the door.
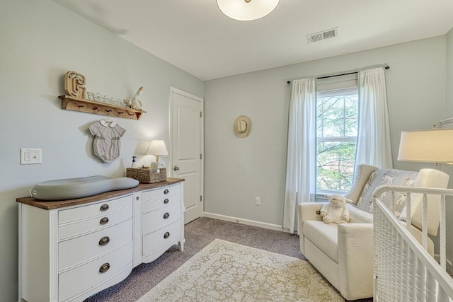
M 143 256 L 159 250 L 180 235 L 181 222 L 178 220 L 171 223 L 169 226 L 143 236 Z

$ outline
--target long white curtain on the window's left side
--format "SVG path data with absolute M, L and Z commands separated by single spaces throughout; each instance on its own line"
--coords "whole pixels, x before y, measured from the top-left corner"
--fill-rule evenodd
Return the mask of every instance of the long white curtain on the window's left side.
M 294 233 L 297 205 L 315 191 L 316 79 L 292 81 L 283 228 Z

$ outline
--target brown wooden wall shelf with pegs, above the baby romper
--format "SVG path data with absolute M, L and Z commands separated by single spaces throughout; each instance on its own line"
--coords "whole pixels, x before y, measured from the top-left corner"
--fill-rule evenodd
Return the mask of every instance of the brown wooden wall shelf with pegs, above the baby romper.
M 139 120 L 144 110 L 109 105 L 107 103 L 95 102 L 84 98 L 74 98 L 69 95 L 60 95 L 62 100 L 62 109 L 94 113 L 96 115 L 108 115 L 110 117 L 125 117 L 127 119 Z

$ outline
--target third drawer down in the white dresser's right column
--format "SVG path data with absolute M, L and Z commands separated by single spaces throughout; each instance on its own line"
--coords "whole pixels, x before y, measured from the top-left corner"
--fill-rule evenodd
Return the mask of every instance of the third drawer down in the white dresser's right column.
M 142 233 L 145 235 L 180 219 L 181 208 L 179 203 L 170 207 L 150 211 L 142 215 Z

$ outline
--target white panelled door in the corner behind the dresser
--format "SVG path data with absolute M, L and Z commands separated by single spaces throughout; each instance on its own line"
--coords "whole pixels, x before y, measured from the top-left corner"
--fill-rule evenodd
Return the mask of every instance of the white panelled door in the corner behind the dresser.
M 184 178 L 184 223 L 203 214 L 203 99 L 171 87 L 171 171 Z

